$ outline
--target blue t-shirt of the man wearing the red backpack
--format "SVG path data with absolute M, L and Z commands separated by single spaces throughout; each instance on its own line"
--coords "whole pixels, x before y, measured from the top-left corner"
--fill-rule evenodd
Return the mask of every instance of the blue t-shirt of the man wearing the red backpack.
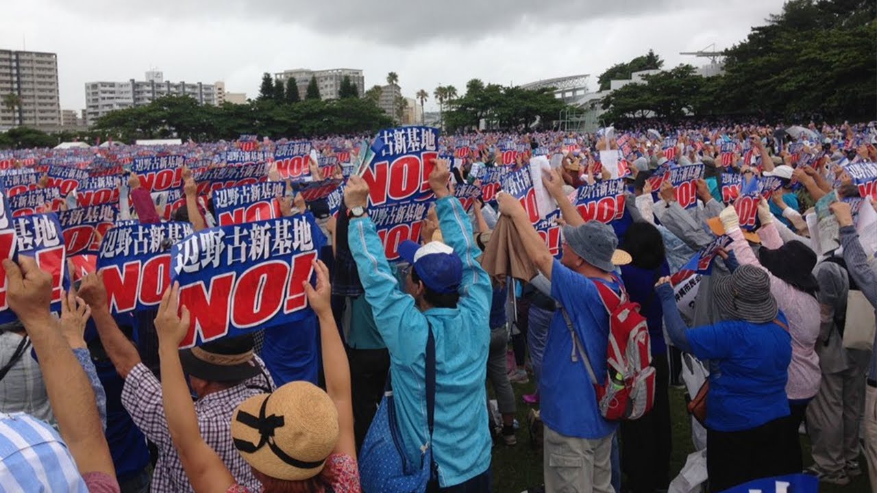
M 588 353 L 597 379 L 606 375 L 606 346 L 609 343 L 609 314 L 602 304 L 594 282 L 555 260 L 551 273 L 552 297 L 563 305 L 573 327 Z M 615 282 L 603 282 L 616 292 Z M 560 310 L 554 311 L 548 326 L 539 397 L 542 421 L 567 437 L 602 439 L 614 432 L 617 424 L 600 415 L 588 371 L 581 358 L 572 359 L 573 339 Z M 603 376 L 601 376 L 603 375 Z

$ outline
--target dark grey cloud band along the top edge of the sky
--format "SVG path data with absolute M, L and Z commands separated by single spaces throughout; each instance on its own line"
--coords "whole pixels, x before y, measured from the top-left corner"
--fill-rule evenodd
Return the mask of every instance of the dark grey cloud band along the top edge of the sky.
M 599 18 L 642 17 L 672 11 L 683 0 L 53 0 L 61 9 L 101 12 L 106 18 L 250 19 L 296 24 L 327 35 L 349 35 L 393 46 L 513 34 L 528 23 L 557 25 Z M 733 0 L 739 2 L 739 0 Z

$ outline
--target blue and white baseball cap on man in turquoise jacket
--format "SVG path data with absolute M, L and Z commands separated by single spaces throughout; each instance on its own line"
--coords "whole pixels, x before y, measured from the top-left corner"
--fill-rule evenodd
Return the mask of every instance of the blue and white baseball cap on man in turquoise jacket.
M 417 271 L 424 284 L 437 293 L 455 293 L 463 279 L 463 262 L 453 248 L 440 241 L 424 246 L 406 239 L 397 249 L 399 256 Z

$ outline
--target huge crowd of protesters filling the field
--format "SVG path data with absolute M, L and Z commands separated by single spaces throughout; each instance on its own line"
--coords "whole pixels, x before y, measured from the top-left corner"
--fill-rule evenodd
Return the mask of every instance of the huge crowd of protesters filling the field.
M 685 412 L 708 481 L 675 490 L 802 473 L 877 485 L 875 139 L 873 125 L 651 121 L 446 136 L 417 154 L 430 207 L 397 240 L 353 137 L 310 142 L 307 184 L 272 157 L 287 142 L 267 139 L 0 155 L 0 178 L 35 175 L 17 193 L 57 188 L 49 168 L 109 175 L 113 226 L 173 220 L 197 235 L 224 225 L 210 172 L 253 153 L 258 181 L 280 186 L 276 218 L 306 217 L 327 239 L 310 279 L 291 275 L 308 306 L 295 326 L 197 345 L 184 341 L 207 314 L 179 282 L 120 313 L 94 255 L 58 266 L 57 295 L 51 269 L 9 248 L 0 491 L 488 492 L 492 451 L 523 445 L 519 405 L 537 488 L 667 491 L 671 387 L 692 368 Z M 182 156 L 177 197 L 132 171 L 144 156 Z M 670 178 L 686 168 L 687 182 Z M 538 199 L 503 186 L 522 170 Z M 13 218 L 94 205 L 81 184 L 16 210 L 11 182 L 0 239 L 11 231 L 21 251 Z M 622 191 L 598 198 L 614 209 L 590 211 L 610 182 Z M 512 384 L 530 379 L 517 402 Z

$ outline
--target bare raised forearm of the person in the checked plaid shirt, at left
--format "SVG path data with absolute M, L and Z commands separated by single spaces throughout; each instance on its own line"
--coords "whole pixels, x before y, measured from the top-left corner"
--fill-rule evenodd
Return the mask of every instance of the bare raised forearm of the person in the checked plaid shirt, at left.
M 132 342 L 119 330 L 116 320 L 110 313 L 107 302 L 107 289 L 103 285 L 103 273 L 89 274 L 82 278 L 79 297 L 89 304 L 91 318 L 95 321 L 97 335 L 101 338 L 103 348 L 110 356 L 118 375 L 127 378 L 132 368 L 140 362 L 140 354 Z

